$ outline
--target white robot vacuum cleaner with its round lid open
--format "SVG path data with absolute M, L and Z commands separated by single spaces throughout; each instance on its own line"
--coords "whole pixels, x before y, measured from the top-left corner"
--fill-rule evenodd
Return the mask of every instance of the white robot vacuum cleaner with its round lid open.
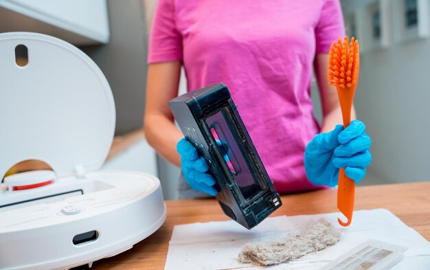
M 28 159 L 52 168 L 2 180 L 0 269 L 91 267 L 161 227 L 159 179 L 100 170 L 115 104 L 86 54 L 52 36 L 0 34 L 0 74 L 0 179 Z

